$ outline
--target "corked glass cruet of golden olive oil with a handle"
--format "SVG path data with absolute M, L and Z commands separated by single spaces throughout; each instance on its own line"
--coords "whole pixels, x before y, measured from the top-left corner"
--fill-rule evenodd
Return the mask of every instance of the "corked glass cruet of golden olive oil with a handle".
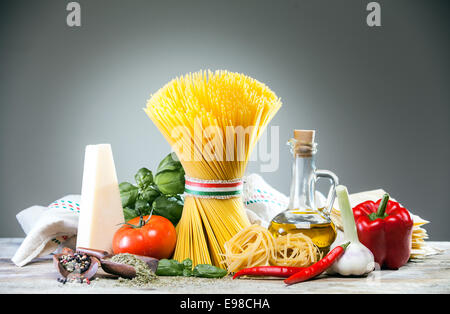
M 331 171 L 316 169 L 317 143 L 314 142 L 314 137 L 314 130 L 295 130 L 294 138 L 288 142 L 294 156 L 289 205 L 272 219 L 269 231 L 274 236 L 303 233 L 326 254 L 336 239 L 330 212 L 338 178 Z M 326 178 L 331 182 L 325 208 L 316 207 L 315 184 L 319 178 Z

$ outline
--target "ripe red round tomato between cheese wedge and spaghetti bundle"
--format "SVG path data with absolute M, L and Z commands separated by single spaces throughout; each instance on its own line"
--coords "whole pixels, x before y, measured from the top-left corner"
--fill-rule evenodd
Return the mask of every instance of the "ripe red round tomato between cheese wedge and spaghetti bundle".
M 143 217 L 144 221 L 148 217 Z M 114 234 L 114 254 L 130 253 L 158 259 L 172 256 L 177 242 L 177 233 L 170 220 L 153 215 L 141 227 L 139 227 L 139 217 L 131 219 L 128 223 L 135 227 L 125 224 Z

